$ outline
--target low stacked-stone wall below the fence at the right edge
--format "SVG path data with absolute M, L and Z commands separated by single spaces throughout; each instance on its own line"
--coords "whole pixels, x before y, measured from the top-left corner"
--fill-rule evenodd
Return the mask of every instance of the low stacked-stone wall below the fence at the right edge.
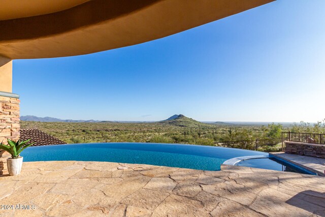
M 325 145 L 285 141 L 285 153 L 325 158 Z

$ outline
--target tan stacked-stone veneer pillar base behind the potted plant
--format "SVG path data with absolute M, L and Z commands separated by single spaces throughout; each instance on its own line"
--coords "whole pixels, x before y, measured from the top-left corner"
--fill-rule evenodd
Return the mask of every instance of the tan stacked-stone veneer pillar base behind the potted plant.
M 5 95 L 5 96 L 4 96 Z M 20 130 L 19 96 L 0 92 L 0 142 L 7 144 L 7 139 L 18 140 Z M 7 158 L 10 154 L 0 151 L 0 175 L 7 170 Z

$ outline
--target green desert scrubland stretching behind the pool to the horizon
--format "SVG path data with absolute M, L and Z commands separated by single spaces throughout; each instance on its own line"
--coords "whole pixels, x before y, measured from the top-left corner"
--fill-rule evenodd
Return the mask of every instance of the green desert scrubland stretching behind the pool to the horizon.
M 181 116 L 160 122 L 37 122 L 21 121 L 22 129 L 37 128 L 67 143 L 154 142 L 215 145 L 224 141 L 280 138 L 282 131 L 325 133 L 324 121 L 290 127 L 212 125 Z

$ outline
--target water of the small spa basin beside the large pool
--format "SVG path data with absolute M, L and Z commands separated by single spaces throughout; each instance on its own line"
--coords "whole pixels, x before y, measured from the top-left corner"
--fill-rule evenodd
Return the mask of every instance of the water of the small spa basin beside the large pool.
M 303 168 L 299 168 L 298 166 L 289 164 L 288 162 L 281 161 L 276 158 L 256 158 L 256 159 L 244 160 L 239 162 L 237 166 L 254 167 L 260 169 L 269 169 L 269 170 L 278 170 L 278 171 L 285 171 L 285 172 L 295 172 L 295 173 L 315 175 L 310 171 L 307 171 Z

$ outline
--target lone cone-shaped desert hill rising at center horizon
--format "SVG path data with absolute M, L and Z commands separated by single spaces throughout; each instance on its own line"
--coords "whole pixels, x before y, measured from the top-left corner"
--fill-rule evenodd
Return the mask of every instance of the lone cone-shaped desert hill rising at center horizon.
M 182 114 L 173 115 L 166 120 L 162 120 L 157 122 L 161 125 L 173 125 L 178 127 L 207 127 L 209 126 L 207 123 L 202 123 L 200 121 L 194 120 L 192 118 L 186 117 Z

